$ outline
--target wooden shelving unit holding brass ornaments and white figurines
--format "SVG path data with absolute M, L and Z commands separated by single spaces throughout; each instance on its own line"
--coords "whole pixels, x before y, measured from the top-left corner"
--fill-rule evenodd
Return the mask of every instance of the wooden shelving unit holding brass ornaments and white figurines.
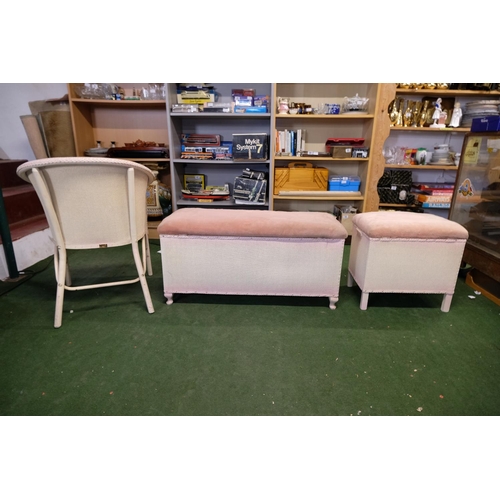
M 467 103 L 480 100 L 495 99 L 498 100 L 500 92 L 498 91 L 474 91 L 474 90 L 438 90 L 438 89 L 406 89 L 397 88 L 397 84 L 385 84 L 388 92 L 392 93 L 392 99 L 402 103 L 403 109 L 406 109 L 409 101 L 425 102 L 428 101 L 427 125 L 431 122 L 434 102 L 441 98 L 444 108 L 448 111 L 446 123 L 449 124 L 453 103 L 459 102 L 461 105 L 463 118 L 467 108 Z M 392 104 L 392 103 L 391 103 Z M 391 105 L 389 106 L 389 110 Z M 468 120 L 470 122 L 470 120 Z M 403 122 L 397 125 L 391 125 L 389 121 L 389 136 L 383 144 L 383 153 L 388 155 L 394 148 L 396 149 L 418 149 L 425 148 L 427 151 L 433 151 L 438 144 L 448 144 L 450 151 L 460 153 L 465 133 L 469 132 L 470 125 L 467 127 L 452 128 L 431 128 L 429 126 L 404 126 Z M 451 162 L 450 162 L 451 163 Z M 420 184 L 427 183 L 455 183 L 458 167 L 455 164 L 450 165 L 410 165 L 405 163 L 385 163 L 384 169 L 409 169 L 412 172 L 413 182 Z M 382 208 L 401 208 L 404 204 L 381 203 Z M 448 217 L 449 210 L 445 209 L 424 209 L 426 212 L 434 213 L 443 217 Z

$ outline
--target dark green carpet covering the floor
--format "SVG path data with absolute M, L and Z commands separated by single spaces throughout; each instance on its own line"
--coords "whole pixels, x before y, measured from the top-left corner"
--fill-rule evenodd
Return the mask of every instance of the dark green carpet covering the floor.
M 67 292 L 59 329 L 46 259 L 0 283 L 0 415 L 499 415 L 500 308 L 460 276 L 449 313 L 413 294 L 372 294 L 361 311 L 349 248 L 334 311 L 307 297 L 167 306 L 153 240 L 154 314 L 139 284 Z M 135 271 L 128 247 L 70 263 L 75 285 Z

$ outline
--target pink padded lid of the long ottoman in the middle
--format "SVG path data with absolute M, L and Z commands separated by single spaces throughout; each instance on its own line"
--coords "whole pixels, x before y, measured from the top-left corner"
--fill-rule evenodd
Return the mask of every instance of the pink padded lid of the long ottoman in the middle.
M 347 238 L 346 229 L 332 214 L 229 208 L 181 208 L 161 221 L 158 233 L 270 238 Z

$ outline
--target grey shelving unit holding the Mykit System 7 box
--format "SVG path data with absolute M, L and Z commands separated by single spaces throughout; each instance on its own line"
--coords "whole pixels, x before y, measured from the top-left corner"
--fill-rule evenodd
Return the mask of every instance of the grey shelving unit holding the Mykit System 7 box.
M 256 95 L 267 95 L 271 99 L 270 83 L 212 83 L 218 96 L 218 102 L 231 102 L 233 89 L 254 89 Z M 269 210 L 269 181 L 267 196 L 264 205 L 236 204 L 232 194 L 234 180 L 242 170 L 249 167 L 253 170 L 265 172 L 267 179 L 272 177 L 272 161 L 270 152 L 262 161 L 241 160 L 199 160 L 181 158 L 181 145 L 183 134 L 215 134 L 224 142 L 232 142 L 233 134 L 265 133 L 271 136 L 271 113 L 222 113 L 222 112 L 197 112 L 177 113 L 172 112 L 172 105 L 177 104 L 177 85 L 167 84 L 167 115 L 170 142 L 170 168 L 172 176 L 172 206 L 173 209 L 181 207 L 208 207 L 208 208 L 245 208 Z M 269 103 L 270 109 L 274 104 Z M 184 175 L 204 175 L 205 185 L 229 185 L 231 199 L 227 201 L 214 201 L 202 203 L 196 200 L 183 199 L 182 189 Z

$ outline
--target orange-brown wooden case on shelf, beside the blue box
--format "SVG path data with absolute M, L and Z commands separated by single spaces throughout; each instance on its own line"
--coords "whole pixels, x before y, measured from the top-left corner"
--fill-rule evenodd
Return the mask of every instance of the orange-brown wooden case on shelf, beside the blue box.
M 312 163 L 289 163 L 274 169 L 274 194 L 280 191 L 327 191 L 328 169 Z

